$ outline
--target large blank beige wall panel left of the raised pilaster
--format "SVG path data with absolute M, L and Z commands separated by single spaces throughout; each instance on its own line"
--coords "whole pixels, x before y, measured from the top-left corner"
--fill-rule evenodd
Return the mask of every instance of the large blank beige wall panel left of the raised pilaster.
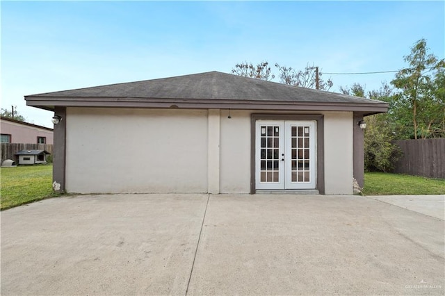
M 67 108 L 67 192 L 207 192 L 207 110 Z

